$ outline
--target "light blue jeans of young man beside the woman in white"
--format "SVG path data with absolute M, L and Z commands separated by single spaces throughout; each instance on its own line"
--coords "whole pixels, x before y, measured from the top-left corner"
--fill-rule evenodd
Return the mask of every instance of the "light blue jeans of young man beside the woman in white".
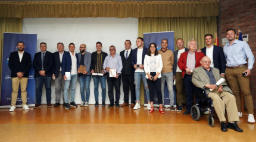
M 145 72 L 135 72 L 134 80 L 135 80 L 135 93 L 136 93 L 136 101 L 139 101 L 139 96 L 141 95 L 141 78 L 143 81 L 144 88 L 146 89 L 146 99 L 150 101 L 149 98 L 149 89 L 148 82 L 146 82 L 146 73 Z

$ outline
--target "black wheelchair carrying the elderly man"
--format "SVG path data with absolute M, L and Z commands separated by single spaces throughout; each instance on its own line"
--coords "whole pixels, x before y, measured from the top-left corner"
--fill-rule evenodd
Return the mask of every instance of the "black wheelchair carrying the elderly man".
M 214 126 L 213 100 L 208 98 L 205 89 L 195 87 L 195 105 L 191 107 L 191 117 L 195 121 L 199 121 L 204 112 L 211 108 L 211 114 L 208 116 L 208 125 Z

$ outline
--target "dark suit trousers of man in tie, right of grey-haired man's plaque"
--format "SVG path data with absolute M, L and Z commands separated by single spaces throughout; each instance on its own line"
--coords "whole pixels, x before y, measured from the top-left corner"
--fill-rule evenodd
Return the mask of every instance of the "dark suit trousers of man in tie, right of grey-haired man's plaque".
M 122 75 L 123 90 L 124 90 L 124 102 L 129 103 L 129 88 L 130 88 L 130 98 L 131 102 L 135 104 L 135 84 L 134 76 Z

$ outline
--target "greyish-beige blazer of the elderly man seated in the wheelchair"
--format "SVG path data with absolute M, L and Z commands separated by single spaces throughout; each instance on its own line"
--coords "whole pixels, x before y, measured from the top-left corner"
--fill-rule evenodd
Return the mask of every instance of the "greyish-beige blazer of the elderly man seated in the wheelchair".
M 222 78 L 222 76 L 220 75 L 220 71 L 217 68 L 213 67 L 212 72 L 213 72 L 214 78 L 216 79 L 216 82 L 220 80 L 220 78 Z M 192 82 L 196 87 L 202 88 L 202 89 L 205 88 L 206 84 L 210 84 L 210 79 L 207 73 L 205 72 L 204 67 L 200 66 L 193 69 Z M 226 82 L 221 83 L 220 85 L 223 86 L 223 91 L 233 93 L 231 89 L 227 86 Z M 205 88 L 205 90 L 207 93 L 210 92 L 209 88 Z

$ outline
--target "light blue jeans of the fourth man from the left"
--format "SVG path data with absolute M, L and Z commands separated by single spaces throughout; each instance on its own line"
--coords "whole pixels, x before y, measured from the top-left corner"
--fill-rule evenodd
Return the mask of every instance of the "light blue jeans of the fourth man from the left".
M 69 90 L 70 82 L 71 82 L 71 101 L 70 102 L 74 102 L 74 95 L 76 94 L 77 75 L 71 75 L 71 80 L 65 80 L 64 92 L 63 92 L 65 103 L 68 103 L 68 90 Z

